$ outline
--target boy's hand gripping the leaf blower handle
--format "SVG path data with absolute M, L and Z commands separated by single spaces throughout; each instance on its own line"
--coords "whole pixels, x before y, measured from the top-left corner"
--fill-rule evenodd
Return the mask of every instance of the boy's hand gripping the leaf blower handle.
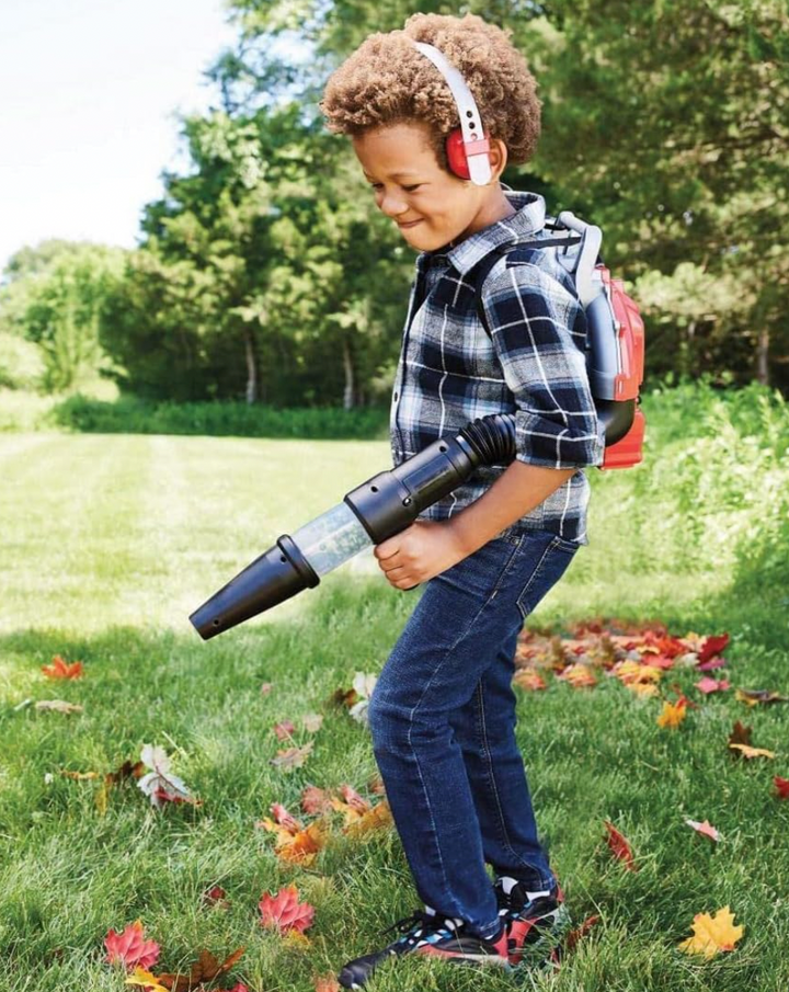
M 468 556 L 444 521 L 414 521 L 373 549 L 387 581 L 396 589 L 414 589 Z

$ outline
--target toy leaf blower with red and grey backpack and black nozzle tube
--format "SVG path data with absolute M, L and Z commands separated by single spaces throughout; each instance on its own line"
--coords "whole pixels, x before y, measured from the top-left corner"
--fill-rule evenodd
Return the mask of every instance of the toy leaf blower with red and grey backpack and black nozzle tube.
M 621 283 L 599 263 L 599 228 L 563 213 L 551 229 L 564 231 L 562 263 L 574 277 L 587 317 L 586 368 L 605 445 L 599 468 L 628 468 L 641 460 L 644 434 L 643 414 L 637 408 L 643 379 L 643 322 Z M 529 249 L 554 243 L 531 242 Z M 567 252 L 576 244 L 576 254 Z M 517 242 L 507 246 L 507 253 L 517 248 Z M 517 264 L 516 258 L 512 261 Z M 483 315 L 481 319 L 484 326 Z M 478 418 L 455 436 L 439 437 L 396 468 L 367 479 L 293 535 L 283 534 L 190 620 L 204 640 L 229 630 L 315 588 L 321 575 L 364 548 L 404 531 L 479 466 L 508 465 L 514 458 L 515 415 Z

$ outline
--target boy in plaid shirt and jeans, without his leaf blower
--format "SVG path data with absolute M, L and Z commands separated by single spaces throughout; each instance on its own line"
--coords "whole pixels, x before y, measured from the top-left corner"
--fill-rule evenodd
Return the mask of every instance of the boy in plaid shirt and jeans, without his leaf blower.
M 450 162 L 460 111 L 447 71 L 414 42 L 438 49 L 473 94 L 489 141 L 468 147 L 485 149 L 484 184 Z M 534 152 L 535 90 L 500 28 L 472 14 L 414 14 L 403 31 L 370 35 L 321 102 L 330 129 L 351 136 L 378 208 L 420 252 L 392 394 L 395 464 L 495 412 L 515 413 L 517 451 L 506 469 L 479 469 L 375 549 L 395 588 L 426 583 L 368 710 L 425 908 L 395 924 L 393 943 L 348 961 L 343 988 L 362 988 L 380 961 L 410 951 L 508 968 L 567 922 L 537 836 L 511 681 L 526 616 L 588 544 L 582 469 L 602 463 L 603 445 L 585 318 L 550 250 L 491 269 L 490 338 L 472 282 L 492 250 L 549 237 L 542 197 L 505 194 L 499 182 L 508 158 Z

